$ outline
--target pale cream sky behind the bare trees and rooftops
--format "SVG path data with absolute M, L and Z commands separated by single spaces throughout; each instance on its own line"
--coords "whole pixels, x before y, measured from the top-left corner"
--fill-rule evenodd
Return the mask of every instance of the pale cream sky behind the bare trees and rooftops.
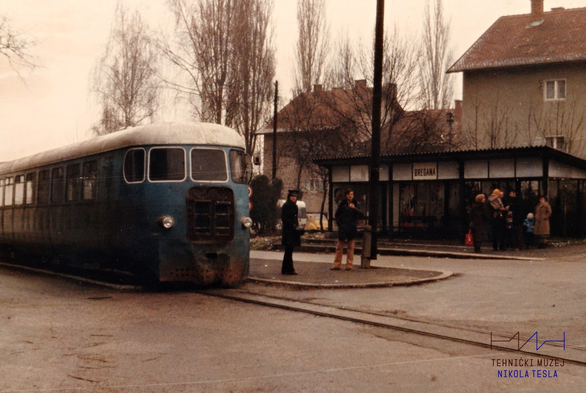
M 12 28 L 35 36 L 33 53 L 42 65 L 32 72 L 13 72 L 0 59 L 0 161 L 9 161 L 91 137 L 99 107 L 88 93 L 89 75 L 103 53 L 116 0 L 0 0 L 0 15 Z M 293 49 L 297 38 L 295 0 L 274 0 L 277 79 L 283 94 L 292 87 Z M 417 38 L 425 0 L 386 0 L 385 27 L 397 24 Z M 138 8 L 151 28 L 168 26 L 165 0 L 125 0 Z M 545 9 L 586 6 L 586 0 L 545 0 Z M 342 31 L 370 38 L 376 0 L 329 0 L 332 41 Z M 499 16 L 530 12 L 530 0 L 444 0 L 452 21 L 456 59 Z M 461 97 L 461 76 L 455 99 Z M 160 121 L 189 120 L 185 113 L 166 110 Z

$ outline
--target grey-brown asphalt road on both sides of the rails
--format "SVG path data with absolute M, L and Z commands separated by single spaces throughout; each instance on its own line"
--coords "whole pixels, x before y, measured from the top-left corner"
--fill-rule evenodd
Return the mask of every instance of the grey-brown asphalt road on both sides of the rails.
M 377 262 L 461 273 L 411 287 L 241 289 L 544 336 L 565 329 L 577 345 L 586 342 L 583 252 L 542 262 Z M 515 357 L 200 293 L 121 293 L 0 267 L 2 393 L 575 392 L 586 385 L 586 367 L 548 367 L 556 378 L 503 378 L 498 370 L 537 367 L 495 367 L 492 358 Z

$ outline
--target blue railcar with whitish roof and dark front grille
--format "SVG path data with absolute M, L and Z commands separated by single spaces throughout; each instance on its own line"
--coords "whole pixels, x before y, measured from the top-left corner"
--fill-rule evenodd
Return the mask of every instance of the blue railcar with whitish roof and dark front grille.
M 217 124 L 138 126 L 0 163 L 0 248 L 159 281 L 248 275 L 250 158 Z

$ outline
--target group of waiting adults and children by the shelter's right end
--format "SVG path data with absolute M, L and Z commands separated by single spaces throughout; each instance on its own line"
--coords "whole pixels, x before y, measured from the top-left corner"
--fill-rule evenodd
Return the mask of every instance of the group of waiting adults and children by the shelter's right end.
M 515 191 L 505 196 L 495 189 L 488 197 L 476 195 L 470 209 L 470 229 L 474 251 L 481 252 L 482 242 L 492 240 L 493 250 L 521 250 L 523 248 L 544 248 L 550 236 L 549 218 L 551 206 L 540 196 L 534 213 L 527 212 L 523 199 Z

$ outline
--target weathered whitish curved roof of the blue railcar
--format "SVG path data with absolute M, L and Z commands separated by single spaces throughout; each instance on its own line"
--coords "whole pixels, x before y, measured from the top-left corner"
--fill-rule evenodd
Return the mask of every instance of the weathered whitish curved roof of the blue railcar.
M 236 131 L 219 124 L 154 123 L 127 128 L 18 160 L 0 162 L 0 174 L 139 145 L 216 145 L 244 148 L 244 141 Z

